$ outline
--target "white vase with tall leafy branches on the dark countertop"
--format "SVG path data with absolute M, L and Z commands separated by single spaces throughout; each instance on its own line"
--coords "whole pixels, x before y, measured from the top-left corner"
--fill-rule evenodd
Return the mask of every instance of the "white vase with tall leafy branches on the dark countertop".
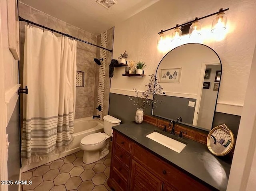
M 162 100 L 157 100 L 158 94 L 162 94 L 162 87 L 160 86 L 157 77 L 152 74 L 149 75 L 150 80 L 145 87 L 147 87 L 146 91 L 140 92 L 134 88 L 136 97 L 130 97 L 130 100 L 133 101 L 133 105 L 137 107 L 135 122 L 141 124 L 143 122 L 143 110 L 146 109 L 147 105 L 151 105 L 156 102 L 162 102 Z M 150 99 L 150 95 L 153 95 L 153 100 Z M 155 108 L 155 105 L 153 106 Z

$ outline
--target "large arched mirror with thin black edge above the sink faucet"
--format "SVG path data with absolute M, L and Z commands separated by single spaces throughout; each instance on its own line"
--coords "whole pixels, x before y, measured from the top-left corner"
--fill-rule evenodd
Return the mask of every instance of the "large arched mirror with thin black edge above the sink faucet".
M 210 131 L 221 77 L 217 53 L 202 44 L 184 44 L 160 61 L 156 76 L 163 95 L 156 95 L 152 115 Z

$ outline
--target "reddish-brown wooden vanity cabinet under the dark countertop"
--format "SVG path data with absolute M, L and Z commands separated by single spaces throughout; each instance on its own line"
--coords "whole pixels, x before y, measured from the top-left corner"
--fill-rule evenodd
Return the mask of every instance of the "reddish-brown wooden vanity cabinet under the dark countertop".
M 115 130 L 108 185 L 115 191 L 211 190 Z

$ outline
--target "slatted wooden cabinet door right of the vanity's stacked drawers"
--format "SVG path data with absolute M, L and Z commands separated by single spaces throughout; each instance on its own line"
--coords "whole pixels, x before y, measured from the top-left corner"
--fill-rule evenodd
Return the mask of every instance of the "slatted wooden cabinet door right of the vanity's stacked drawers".
M 132 160 L 130 191 L 162 191 L 162 181 Z

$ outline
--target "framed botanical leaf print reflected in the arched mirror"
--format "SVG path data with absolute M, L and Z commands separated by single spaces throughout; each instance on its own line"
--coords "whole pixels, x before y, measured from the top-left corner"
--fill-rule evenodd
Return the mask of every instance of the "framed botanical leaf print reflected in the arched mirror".
M 160 83 L 180 83 L 181 68 L 161 69 Z

